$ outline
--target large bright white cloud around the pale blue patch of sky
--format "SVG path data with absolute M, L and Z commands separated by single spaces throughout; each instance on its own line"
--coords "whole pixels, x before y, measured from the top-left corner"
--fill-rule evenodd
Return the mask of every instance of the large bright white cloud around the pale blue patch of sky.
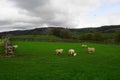
M 116 21 L 116 19 L 118 19 L 117 17 L 120 17 L 120 14 L 112 14 L 111 11 L 109 11 L 107 15 L 91 16 L 92 12 L 99 9 L 102 5 L 105 5 L 106 2 L 107 4 L 115 4 L 119 1 L 120 0 L 51 0 L 51 3 L 59 13 L 56 20 L 67 20 L 69 25 L 82 28 L 120 24 L 120 19 Z M 102 13 L 102 11 L 100 13 Z

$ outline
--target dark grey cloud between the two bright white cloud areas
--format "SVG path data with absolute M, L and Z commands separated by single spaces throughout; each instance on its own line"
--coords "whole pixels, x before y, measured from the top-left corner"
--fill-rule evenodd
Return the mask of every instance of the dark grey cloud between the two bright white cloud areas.
M 50 0 L 13 0 L 19 8 L 26 9 L 30 16 L 40 17 L 41 21 L 37 22 L 40 24 L 47 24 L 52 26 L 65 26 L 69 20 L 59 20 L 55 19 L 62 15 L 66 19 L 67 15 L 56 10 Z M 56 16 L 56 14 L 59 14 Z

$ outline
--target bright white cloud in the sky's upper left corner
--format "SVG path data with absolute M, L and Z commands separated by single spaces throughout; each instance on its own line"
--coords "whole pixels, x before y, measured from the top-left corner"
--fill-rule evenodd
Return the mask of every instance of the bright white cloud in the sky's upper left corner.
M 1 0 L 0 1 L 0 20 L 2 21 L 40 21 L 39 17 L 29 16 L 24 9 L 15 7 L 14 3 Z

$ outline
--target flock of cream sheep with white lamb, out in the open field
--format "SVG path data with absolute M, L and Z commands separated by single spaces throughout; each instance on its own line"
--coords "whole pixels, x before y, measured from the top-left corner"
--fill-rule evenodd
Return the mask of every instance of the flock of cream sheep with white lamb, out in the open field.
M 90 53 L 90 54 L 95 52 L 95 48 L 88 47 L 88 46 L 85 45 L 85 44 L 82 45 L 82 48 L 87 48 L 87 51 L 88 51 L 88 53 Z M 58 55 L 58 54 L 62 54 L 62 53 L 63 53 L 63 49 L 56 49 L 55 52 L 56 52 L 57 55 Z M 76 55 L 77 55 L 77 53 L 75 52 L 74 49 L 69 49 L 69 50 L 68 50 L 68 54 L 69 54 L 69 55 L 72 55 L 72 56 L 76 56 Z

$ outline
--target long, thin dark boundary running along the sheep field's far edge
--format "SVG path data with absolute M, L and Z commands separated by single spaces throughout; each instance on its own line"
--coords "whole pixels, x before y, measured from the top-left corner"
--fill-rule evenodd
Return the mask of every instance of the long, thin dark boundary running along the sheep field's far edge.
M 12 41 L 33 41 L 33 42 L 90 42 L 90 43 L 99 43 L 99 44 L 117 44 L 120 43 L 116 42 L 109 42 L 109 41 L 85 41 L 85 40 L 78 40 L 78 39 L 36 39 L 36 38 L 11 38 Z

